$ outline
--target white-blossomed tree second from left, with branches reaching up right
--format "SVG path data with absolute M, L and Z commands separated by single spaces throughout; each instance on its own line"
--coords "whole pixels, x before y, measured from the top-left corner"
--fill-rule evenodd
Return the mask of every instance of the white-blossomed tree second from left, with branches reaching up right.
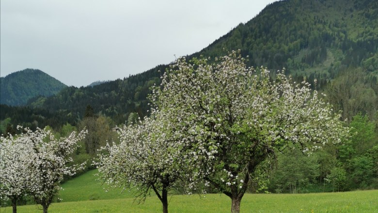
M 42 205 L 43 213 L 52 199 L 59 193 L 59 183 L 64 175 L 72 176 L 83 164 L 67 167 L 72 162 L 71 153 L 75 151 L 77 142 L 84 139 L 86 131 L 79 134 L 72 132 L 68 137 L 57 139 L 50 131 L 37 129 L 32 132 L 25 128 L 25 134 L 21 135 L 28 142 L 28 147 L 33 151 L 28 160 L 28 191 L 34 197 L 36 203 Z

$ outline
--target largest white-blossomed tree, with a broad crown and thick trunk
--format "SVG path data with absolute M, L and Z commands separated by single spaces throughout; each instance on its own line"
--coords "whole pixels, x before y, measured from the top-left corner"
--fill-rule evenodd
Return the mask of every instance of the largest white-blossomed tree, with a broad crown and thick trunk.
M 192 170 L 232 200 L 240 201 L 258 166 L 284 149 L 312 152 L 347 136 L 331 106 L 306 82 L 276 79 L 265 68 L 247 68 L 232 52 L 209 63 L 177 60 L 152 95 L 153 107 L 176 132 Z

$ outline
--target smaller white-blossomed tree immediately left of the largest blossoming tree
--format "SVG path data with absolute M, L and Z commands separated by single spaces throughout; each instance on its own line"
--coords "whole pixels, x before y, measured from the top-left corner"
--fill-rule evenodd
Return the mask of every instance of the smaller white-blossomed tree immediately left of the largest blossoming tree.
M 180 144 L 162 112 L 152 110 L 151 116 L 120 131 L 119 145 L 107 145 L 109 154 L 99 155 L 94 163 L 99 180 L 110 187 L 136 189 L 136 196 L 144 201 L 153 190 L 160 199 L 163 213 L 168 213 L 168 192 L 181 189 L 185 177 Z

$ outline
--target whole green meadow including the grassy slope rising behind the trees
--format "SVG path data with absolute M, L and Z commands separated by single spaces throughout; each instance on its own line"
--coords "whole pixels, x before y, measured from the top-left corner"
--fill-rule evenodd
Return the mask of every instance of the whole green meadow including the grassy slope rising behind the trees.
M 143 204 L 134 203 L 132 193 L 120 190 L 105 193 L 95 182 L 95 170 L 65 182 L 60 197 L 52 203 L 49 213 L 159 213 L 161 203 L 152 194 Z M 89 200 L 89 199 L 98 200 Z M 37 205 L 19 206 L 19 213 L 39 213 Z M 225 195 L 174 195 L 170 197 L 170 213 L 228 213 L 231 200 Z M 11 213 L 1 208 L 0 213 Z M 378 190 L 316 194 L 246 194 L 241 213 L 378 213 Z

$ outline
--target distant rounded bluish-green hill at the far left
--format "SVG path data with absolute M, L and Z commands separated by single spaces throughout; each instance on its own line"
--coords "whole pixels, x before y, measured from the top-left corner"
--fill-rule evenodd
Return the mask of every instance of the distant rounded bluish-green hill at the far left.
M 67 87 L 41 70 L 25 69 L 0 78 L 0 104 L 25 105 L 35 96 L 51 96 Z

